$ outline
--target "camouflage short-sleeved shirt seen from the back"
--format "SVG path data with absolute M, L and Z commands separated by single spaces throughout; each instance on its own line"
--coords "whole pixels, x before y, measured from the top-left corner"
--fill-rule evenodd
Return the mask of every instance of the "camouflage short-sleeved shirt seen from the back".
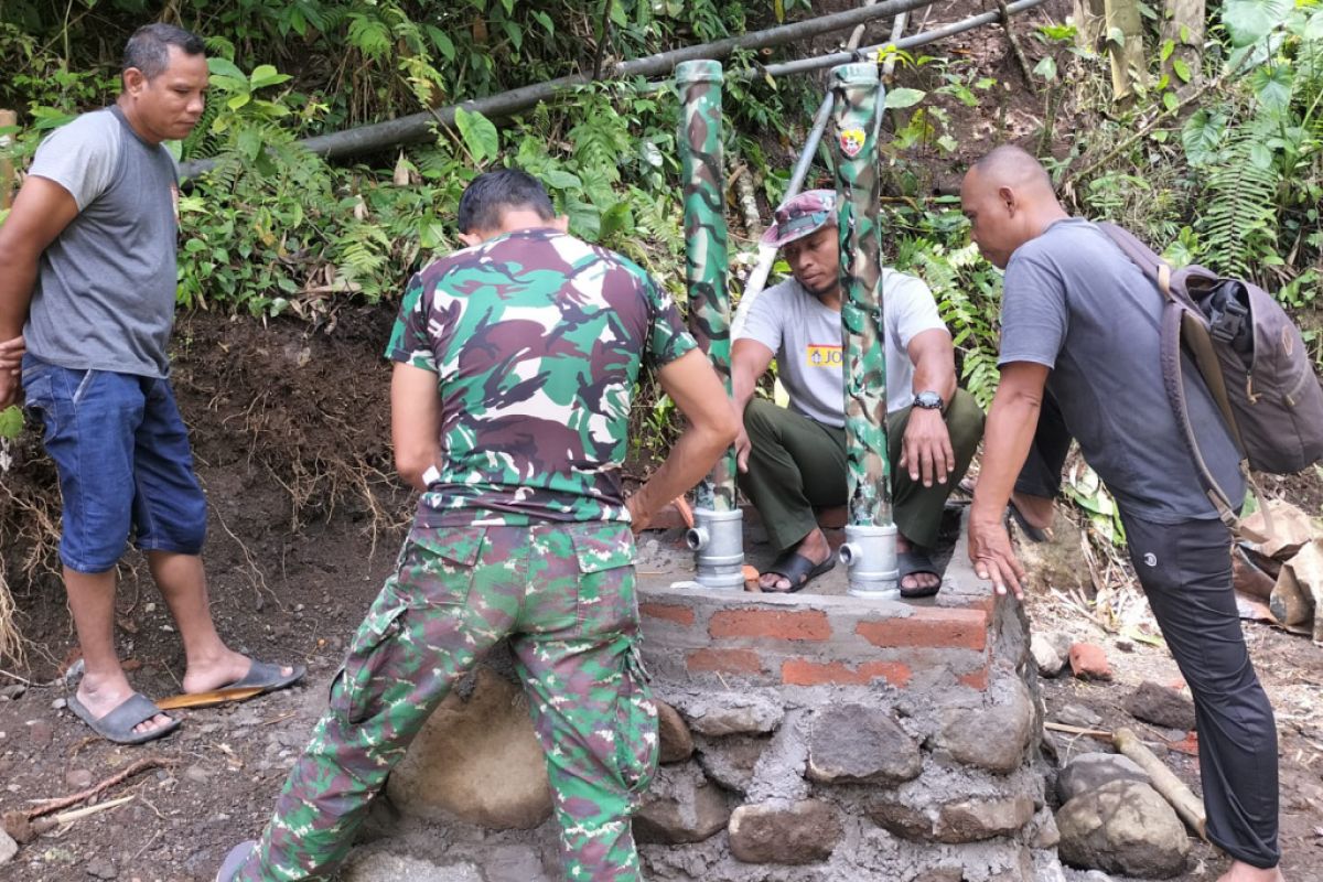
M 675 303 L 613 251 L 521 230 L 410 279 L 386 357 L 437 374 L 441 479 L 418 524 L 627 521 L 640 364 L 695 348 Z

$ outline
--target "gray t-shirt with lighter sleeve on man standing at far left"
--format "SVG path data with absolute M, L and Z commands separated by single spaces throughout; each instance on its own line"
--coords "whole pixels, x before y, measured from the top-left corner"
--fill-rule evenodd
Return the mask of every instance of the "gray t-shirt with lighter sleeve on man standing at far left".
M 169 151 L 142 140 L 108 107 L 52 132 L 28 173 L 78 204 L 41 255 L 28 352 L 62 368 L 168 376 L 179 233 Z

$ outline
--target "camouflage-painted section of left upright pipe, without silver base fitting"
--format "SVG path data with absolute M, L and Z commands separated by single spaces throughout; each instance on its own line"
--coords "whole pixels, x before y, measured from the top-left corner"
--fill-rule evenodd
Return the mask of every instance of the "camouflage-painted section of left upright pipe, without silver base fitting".
M 730 391 L 730 296 L 726 291 L 726 218 L 721 171 L 721 62 L 687 61 L 676 67 L 684 102 L 680 175 L 684 180 L 685 284 L 689 331 Z M 736 451 L 717 460 L 699 485 L 699 508 L 736 506 Z

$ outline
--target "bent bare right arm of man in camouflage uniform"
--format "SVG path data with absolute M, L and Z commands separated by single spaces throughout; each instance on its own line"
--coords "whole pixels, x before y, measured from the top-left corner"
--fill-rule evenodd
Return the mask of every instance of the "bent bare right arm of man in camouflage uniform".
M 659 508 L 703 480 L 740 430 L 730 398 L 703 352 L 684 353 L 662 368 L 658 380 L 688 426 L 662 467 L 628 500 L 635 533 L 648 525 Z

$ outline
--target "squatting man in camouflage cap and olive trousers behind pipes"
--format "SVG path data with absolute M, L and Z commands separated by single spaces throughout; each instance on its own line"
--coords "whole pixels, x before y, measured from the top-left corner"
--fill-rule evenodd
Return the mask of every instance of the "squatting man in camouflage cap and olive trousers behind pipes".
M 782 249 L 792 278 L 754 301 L 732 348 L 730 374 L 744 413 L 736 439 L 740 488 L 778 550 L 759 587 L 787 592 L 836 565 L 814 509 L 844 505 L 847 496 L 836 193 L 808 190 L 789 200 L 762 241 Z M 884 267 L 882 296 L 900 588 L 902 596 L 921 598 L 941 587 L 927 549 L 946 497 L 974 456 L 983 411 L 955 387 L 951 335 L 927 286 Z M 754 397 L 774 357 L 789 409 Z

